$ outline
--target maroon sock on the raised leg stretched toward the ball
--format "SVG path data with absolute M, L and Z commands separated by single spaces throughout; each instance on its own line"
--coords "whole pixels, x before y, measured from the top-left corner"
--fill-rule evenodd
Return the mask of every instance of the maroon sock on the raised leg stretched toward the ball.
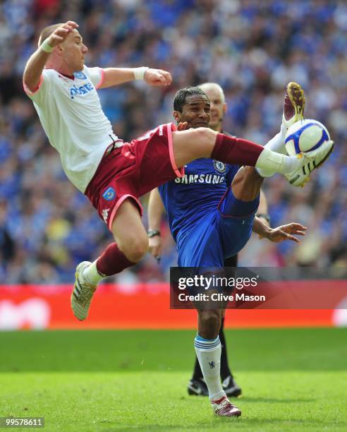
M 255 167 L 262 150 L 264 150 L 262 145 L 252 143 L 252 141 L 218 133 L 211 158 L 226 164 Z

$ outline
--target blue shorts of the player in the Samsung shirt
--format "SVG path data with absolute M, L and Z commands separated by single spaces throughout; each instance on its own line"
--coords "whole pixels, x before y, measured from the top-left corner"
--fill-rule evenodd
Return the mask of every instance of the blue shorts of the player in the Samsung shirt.
M 177 240 L 178 267 L 224 267 L 224 260 L 250 239 L 258 206 L 259 196 L 241 201 L 228 188 L 217 208 Z

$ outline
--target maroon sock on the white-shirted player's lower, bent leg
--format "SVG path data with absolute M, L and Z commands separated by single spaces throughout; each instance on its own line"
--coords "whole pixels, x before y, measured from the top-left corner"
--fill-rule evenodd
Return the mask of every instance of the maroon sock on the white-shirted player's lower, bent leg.
M 97 259 L 97 271 L 100 275 L 111 276 L 135 264 L 126 258 L 116 243 L 111 243 Z

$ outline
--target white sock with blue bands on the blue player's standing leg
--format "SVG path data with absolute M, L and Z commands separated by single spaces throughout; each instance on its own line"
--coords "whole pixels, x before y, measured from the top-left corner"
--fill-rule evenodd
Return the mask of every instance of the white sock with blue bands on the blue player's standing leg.
M 219 336 L 216 339 L 204 339 L 196 335 L 194 346 L 202 375 L 209 390 L 209 400 L 219 400 L 225 396 L 221 387 L 221 342 Z

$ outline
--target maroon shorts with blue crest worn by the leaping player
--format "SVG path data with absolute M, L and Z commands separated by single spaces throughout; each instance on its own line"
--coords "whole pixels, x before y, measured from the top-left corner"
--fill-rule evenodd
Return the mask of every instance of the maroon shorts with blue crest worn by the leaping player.
M 172 131 L 174 124 L 162 124 L 102 158 L 85 195 L 110 230 L 126 198 L 133 199 L 142 215 L 140 196 L 184 175 L 173 159 Z

